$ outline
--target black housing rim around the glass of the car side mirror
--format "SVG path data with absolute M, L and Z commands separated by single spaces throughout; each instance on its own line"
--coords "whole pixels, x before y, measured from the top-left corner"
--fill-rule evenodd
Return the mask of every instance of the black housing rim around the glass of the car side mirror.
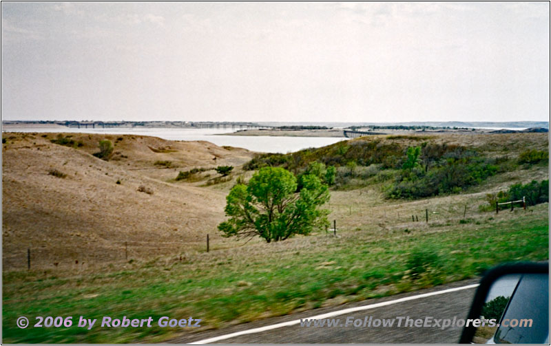
M 524 275 L 524 274 L 545 274 L 549 280 L 549 263 L 513 263 L 498 266 L 486 272 L 480 281 L 479 288 L 475 294 L 475 299 L 472 301 L 470 311 L 467 318 L 476 319 L 481 316 L 482 308 L 486 302 L 486 296 L 490 292 L 492 285 L 500 278 L 508 275 Z M 514 296 L 511 296 L 511 300 Z M 530 303 L 530 302 L 527 302 Z M 548 306 L 545 307 L 548 309 Z M 548 323 L 549 325 L 549 323 Z M 469 325 L 463 329 L 459 343 L 472 343 L 477 327 Z

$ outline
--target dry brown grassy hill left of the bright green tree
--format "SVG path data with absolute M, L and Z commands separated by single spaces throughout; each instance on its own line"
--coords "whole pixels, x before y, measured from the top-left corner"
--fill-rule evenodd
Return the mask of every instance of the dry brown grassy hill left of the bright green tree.
M 3 270 L 25 267 L 27 248 L 33 266 L 52 268 L 124 259 L 125 242 L 129 258 L 204 246 L 207 232 L 218 237 L 225 193 L 166 180 L 179 170 L 239 165 L 252 155 L 209 142 L 82 133 L 63 133 L 82 143 L 65 147 L 50 142 L 56 136 L 3 133 Z M 114 143 L 108 162 L 90 155 L 103 139 Z M 171 168 L 157 161 L 170 161 Z

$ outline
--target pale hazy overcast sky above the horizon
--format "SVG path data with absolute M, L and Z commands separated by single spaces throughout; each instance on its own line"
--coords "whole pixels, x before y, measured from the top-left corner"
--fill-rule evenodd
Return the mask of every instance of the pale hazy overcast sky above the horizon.
M 549 32 L 548 2 L 2 2 L 2 119 L 549 121 Z

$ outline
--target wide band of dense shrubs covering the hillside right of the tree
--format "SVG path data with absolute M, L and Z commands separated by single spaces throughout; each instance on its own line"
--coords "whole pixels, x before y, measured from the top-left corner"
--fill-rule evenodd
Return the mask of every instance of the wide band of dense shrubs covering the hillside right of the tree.
M 327 167 L 335 166 L 335 188 L 359 188 L 390 180 L 384 187 L 386 197 L 415 199 L 459 193 L 492 175 L 513 171 L 518 164 L 534 164 L 548 158 L 545 151 L 534 150 L 522 153 L 519 160 L 508 156 L 487 158 L 478 149 L 431 143 L 430 138 L 422 138 L 426 141 L 417 147 L 389 139 L 408 138 L 390 136 L 386 140 L 339 142 L 289 154 L 264 153 L 256 155 L 244 168 L 282 166 L 300 175 L 313 162 L 320 162 Z M 379 176 L 381 179 L 377 179 Z

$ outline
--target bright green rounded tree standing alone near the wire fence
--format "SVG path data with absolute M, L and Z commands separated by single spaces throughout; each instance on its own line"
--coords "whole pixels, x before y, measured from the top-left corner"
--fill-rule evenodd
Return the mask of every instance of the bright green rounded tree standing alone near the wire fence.
M 307 235 L 328 224 L 328 210 L 320 208 L 329 201 L 329 191 L 319 177 L 302 176 L 303 187 L 296 193 L 293 173 L 280 167 L 264 167 L 249 184 L 236 184 L 226 197 L 226 216 L 218 225 L 225 237 L 258 235 L 267 242 L 293 235 Z

